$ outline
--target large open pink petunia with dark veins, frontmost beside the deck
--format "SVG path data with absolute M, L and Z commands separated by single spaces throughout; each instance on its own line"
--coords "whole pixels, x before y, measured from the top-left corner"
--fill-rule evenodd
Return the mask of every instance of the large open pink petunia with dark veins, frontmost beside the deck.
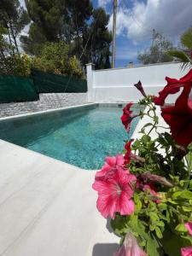
M 131 200 L 134 194 L 131 183 L 134 181 L 136 177 L 119 166 L 106 172 L 104 177 L 96 178 L 92 188 L 98 192 L 96 207 L 104 218 L 114 218 L 115 212 L 121 215 L 131 215 L 134 212 L 135 205 Z

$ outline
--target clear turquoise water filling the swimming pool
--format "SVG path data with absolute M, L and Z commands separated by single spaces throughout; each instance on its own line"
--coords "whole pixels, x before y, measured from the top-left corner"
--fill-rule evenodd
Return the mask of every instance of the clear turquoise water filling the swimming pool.
M 135 113 L 138 108 L 132 108 Z M 73 109 L 0 122 L 0 138 L 84 169 L 101 168 L 107 155 L 124 148 L 128 135 L 121 108 Z

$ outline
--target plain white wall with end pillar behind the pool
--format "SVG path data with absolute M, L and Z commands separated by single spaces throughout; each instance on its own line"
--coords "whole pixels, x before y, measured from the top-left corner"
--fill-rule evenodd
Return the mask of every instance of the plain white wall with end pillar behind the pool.
M 92 68 L 91 68 L 92 67 Z M 163 63 L 141 67 L 113 68 L 95 71 L 93 64 L 87 65 L 89 102 L 138 102 L 143 96 L 133 86 L 138 80 L 148 95 L 158 95 L 166 85 L 166 76 L 179 79 L 187 71 L 180 63 Z M 169 96 L 173 102 L 176 96 Z

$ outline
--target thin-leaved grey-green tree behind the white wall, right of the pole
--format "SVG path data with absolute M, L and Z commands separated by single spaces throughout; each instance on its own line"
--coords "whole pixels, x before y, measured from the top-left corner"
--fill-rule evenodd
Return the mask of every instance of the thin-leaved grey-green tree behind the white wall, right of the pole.
M 159 32 L 156 32 L 150 49 L 143 53 L 138 53 L 137 60 L 143 64 L 172 61 L 172 56 L 167 54 L 167 51 L 172 48 L 172 43 L 166 40 Z

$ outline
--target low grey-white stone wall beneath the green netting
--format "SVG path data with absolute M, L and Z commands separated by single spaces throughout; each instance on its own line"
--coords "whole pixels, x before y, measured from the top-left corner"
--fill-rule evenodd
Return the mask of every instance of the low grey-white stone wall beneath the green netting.
M 87 93 L 40 94 L 38 102 L 14 102 L 0 104 L 0 117 L 33 113 L 48 109 L 64 108 L 87 103 Z

